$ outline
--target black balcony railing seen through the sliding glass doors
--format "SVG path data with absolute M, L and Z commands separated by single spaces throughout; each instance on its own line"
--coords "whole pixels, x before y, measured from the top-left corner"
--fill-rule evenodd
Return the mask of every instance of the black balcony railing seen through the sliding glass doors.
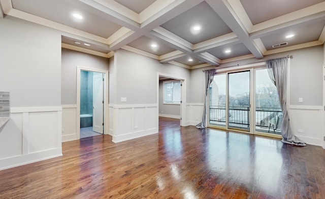
M 248 106 L 230 106 L 229 107 L 229 124 L 249 127 L 249 111 Z M 270 123 L 275 124 L 277 117 L 281 115 L 281 108 L 256 107 L 255 125 L 258 127 L 268 128 Z M 225 106 L 210 106 L 210 123 L 225 124 Z

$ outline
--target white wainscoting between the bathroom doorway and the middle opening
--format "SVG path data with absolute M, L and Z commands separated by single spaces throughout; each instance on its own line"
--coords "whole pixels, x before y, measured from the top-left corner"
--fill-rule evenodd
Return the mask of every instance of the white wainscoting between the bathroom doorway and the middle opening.
M 122 142 L 158 133 L 156 104 L 109 105 L 113 108 L 112 141 Z M 111 130 L 110 130 L 111 131 Z

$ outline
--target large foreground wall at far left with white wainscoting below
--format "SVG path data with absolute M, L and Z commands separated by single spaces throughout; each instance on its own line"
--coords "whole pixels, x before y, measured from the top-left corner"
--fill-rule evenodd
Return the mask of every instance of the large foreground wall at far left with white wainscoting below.
M 11 16 L 0 27 L 0 91 L 10 92 L 2 170 L 62 155 L 61 34 Z

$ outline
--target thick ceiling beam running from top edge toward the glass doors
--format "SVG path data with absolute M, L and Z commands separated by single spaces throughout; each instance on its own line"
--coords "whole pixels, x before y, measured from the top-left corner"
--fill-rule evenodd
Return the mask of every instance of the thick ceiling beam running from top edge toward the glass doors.
M 242 15 L 241 13 L 236 13 L 227 0 L 207 0 L 206 2 L 216 13 L 218 13 L 220 18 L 230 27 L 230 29 L 233 30 L 233 32 L 243 42 L 246 48 L 255 56 L 255 58 L 261 59 L 264 57 L 262 51 L 258 49 L 258 46 L 249 38 L 249 27 L 246 27 L 247 22 L 243 23 L 238 17 Z M 240 1 L 238 1 L 237 4 L 240 4 Z

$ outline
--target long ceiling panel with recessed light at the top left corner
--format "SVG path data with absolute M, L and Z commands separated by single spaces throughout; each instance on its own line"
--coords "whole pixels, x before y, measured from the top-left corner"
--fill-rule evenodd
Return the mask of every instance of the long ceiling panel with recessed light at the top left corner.
M 104 38 L 108 38 L 121 28 L 120 25 L 89 12 L 92 8 L 87 7 L 81 2 L 64 0 L 12 0 L 12 3 L 14 9 Z M 73 17 L 74 13 L 83 16 L 83 19 L 76 19 Z

